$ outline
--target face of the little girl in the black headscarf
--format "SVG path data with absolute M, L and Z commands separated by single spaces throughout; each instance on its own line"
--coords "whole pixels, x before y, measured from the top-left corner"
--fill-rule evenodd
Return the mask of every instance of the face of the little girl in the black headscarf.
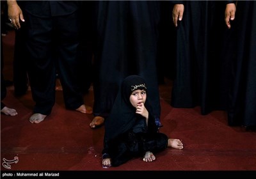
M 133 107 L 137 107 L 138 105 L 141 105 L 141 103 L 145 104 L 145 101 L 147 99 L 147 93 L 144 89 L 137 89 L 132 91 L 130 96 L 130 102 Z

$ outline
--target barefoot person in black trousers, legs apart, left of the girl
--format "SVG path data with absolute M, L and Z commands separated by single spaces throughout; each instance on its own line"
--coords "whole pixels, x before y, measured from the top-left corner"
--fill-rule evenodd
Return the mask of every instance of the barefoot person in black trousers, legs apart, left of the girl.
M 79 1 L 8 1 L 8 16 L 15 28 L 26 33 L 28 76 L 35 101 L 31 123 L 51 114 L 55 103 L 56 72 L 60 76 L 67 109 L 92 114 L 86 107 L 77 80 Z M 26 21 L 25 21 L 26 20 Z

